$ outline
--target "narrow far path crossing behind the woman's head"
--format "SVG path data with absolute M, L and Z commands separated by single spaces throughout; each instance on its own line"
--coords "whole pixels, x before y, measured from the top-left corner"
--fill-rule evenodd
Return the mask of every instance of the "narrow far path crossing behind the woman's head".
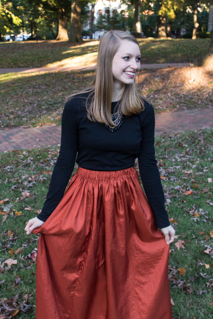
M 184 66 L 191 66 L 190 63 L 156 63 L 156 64 L 141 64 L 141 69 L 166 69 L 166 68 L 181 68 Z M 95 65 L 88 67 L 49 67 L 49 68 L 14 68 L 14 69 L 0 69 L 0 73 L 31 73 L 31 72 L 58 72 L 58 71 L 84 71 L 84 70 L 95 70 Z

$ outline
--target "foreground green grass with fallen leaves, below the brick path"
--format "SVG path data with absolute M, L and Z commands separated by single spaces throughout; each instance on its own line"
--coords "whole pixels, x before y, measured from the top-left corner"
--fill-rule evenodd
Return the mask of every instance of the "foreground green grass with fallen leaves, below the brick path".
M 166 207 L 169 217 L 175 221 L 173 226 L 179 236 L 171 244 L 169 261 L 175 319 L 212 318 L 212 307 L 209 305 L 213 301 L 210 281 L 212 248 L 209 254 L 204 252 L 208 246 L 212 247 L 211 136 L 212 130 L 209 129 L 156 138 L 156 158 Z M 19 293 L 17 303 L 21 303 L 24 295 L 28 294 L 27 304 L 32 306 L 26 313 L 20 310 L 16 318 L 34 318 L 35 263 L 31 257 L 37 247 L 38 236 L 26 235 L 24 227 L 27 220 L 35 216 L 35 211 L 42 208 L 50 180 L 48 171 L 52 171 L 57 154 L 58 148 L 1 153 L 0 262 L 3 264 L 12 258 L 17 259 L 17 264 L 10 268 L 6 268 L 6 264 L 3 266 L 0 282 L 4 279 L 5 282 L 0 284 L 0 299 Z M 15 215 L 16 211 L 21 211 L 21 215 Z M 11 237 L 8 237 L 9 231 L 13 233 Z M 184 241 L 185 248 L 177 249 L 175 243 L 178 240 Z M 20 247 L 23 247 L 20 254 L 9 253 L 11 249 L 15 252 Z M 20 267 L 21 263 L 25 268 Z M 205 264 L 209 265 L 208 269 Z M 178 269 L 182 267 L 186 270 L 185 275 L 179 274 Z M 203 277 L 201 273 L 206 274 Z M 20 277 L 16 285 L 15 276 Z

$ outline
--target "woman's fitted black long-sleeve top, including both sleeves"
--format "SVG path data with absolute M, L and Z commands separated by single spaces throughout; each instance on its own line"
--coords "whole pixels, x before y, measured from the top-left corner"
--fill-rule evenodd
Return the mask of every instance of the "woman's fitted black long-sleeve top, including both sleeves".
M 121 127 L 110 132 L 102 123 L 88 120 L 85 106 L 87 95 L 79 94 L 65 104 L 60 152 L 38 219 L 45 221 L 62 199 L 75 160 L 80 167 L 89 170 L 116 171 L 133 167 L 138 157 L 141 180 L 155 214 L 156 225 L 158 228 L 169 226 L 155 159 L 155 115 L 152 105 L 145 101 L 144 110 L 139 115 L 125 116 Z M 112 102 L 112 113 L 117 104 Z

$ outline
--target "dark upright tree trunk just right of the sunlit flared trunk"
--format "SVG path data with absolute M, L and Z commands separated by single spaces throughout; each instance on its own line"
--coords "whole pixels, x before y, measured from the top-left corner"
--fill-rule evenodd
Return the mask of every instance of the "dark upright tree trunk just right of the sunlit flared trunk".
M 70 21 L 70 42 L 83 42 L 81 35 L 81 2 L 72 0 L 71 4 L 71 21 Z

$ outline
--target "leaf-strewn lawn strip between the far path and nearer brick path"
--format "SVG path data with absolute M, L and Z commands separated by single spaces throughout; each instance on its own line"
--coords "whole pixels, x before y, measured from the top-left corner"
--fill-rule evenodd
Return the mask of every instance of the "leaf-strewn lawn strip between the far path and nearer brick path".
M 65 98 L 85 89 L 94 71 L 0 74 L 0 128 L 60 124 Z M 212 106 L 213 80 L 202 67 L 141 70 L 138 90 L 156 110 Z

